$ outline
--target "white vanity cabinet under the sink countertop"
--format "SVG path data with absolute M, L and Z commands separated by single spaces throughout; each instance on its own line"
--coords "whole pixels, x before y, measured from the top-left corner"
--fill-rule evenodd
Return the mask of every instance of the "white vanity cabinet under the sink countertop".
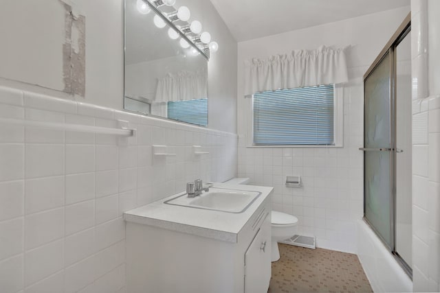
M 267 292 L 271 192 L 269 189 L 256 200 L 256 207 L 247 215 L 173 207 L 177 214 L 191 210 L 199 216 L 201 226 L 188 225 L 192 221 L 188 220 L 186 224 L 166 222 L 168 226 L 163 228 L 154 217 L 146 218 L 148 224 L 144 224 L 139 210 L 129 213 L 131 217 L 125 216 L 127 292 Z M 206 228 L 210 221 L 236 222 L 234 219 L 243 220 L 236 233 Z

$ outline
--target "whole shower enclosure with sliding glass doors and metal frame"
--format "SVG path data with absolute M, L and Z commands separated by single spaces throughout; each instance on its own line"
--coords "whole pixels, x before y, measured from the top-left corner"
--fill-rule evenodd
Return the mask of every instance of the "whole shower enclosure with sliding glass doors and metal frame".
M 364 75 L 364 220 L 412 275 L 410 16 Z

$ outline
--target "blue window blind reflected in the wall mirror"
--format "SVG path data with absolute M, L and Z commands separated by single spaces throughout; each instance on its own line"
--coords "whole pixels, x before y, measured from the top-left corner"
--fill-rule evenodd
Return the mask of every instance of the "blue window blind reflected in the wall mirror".
M 208 99 L 168 102 L 168 118 L 208 126 Z

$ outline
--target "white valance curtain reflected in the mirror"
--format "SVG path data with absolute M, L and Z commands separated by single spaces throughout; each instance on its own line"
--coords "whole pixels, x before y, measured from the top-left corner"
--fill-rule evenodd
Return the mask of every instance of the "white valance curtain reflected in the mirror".
M 203 99 L 208 97 L 208 74 L 206 70 L 179 71 L 167 73 L 157 81 L 155 101 L 166 103 L 188 99 Z

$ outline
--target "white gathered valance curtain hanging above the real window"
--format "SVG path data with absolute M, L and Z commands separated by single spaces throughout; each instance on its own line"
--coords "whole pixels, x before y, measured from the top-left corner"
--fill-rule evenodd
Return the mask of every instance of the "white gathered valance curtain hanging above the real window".
M 321 46 L 245 61 L 245 95 L 349 80 L 344 49 Z

